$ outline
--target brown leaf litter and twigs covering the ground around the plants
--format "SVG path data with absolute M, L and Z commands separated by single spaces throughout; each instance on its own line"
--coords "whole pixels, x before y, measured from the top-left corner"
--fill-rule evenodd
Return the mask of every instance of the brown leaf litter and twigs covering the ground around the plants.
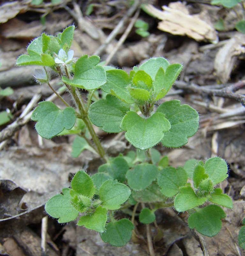
M 195 108 L 200 127 L 182 148 L 157 148 L 163 156 L 168 155 L 174 167 L 183 166 L 190 158 L 226 159 L 229 177 L 220 186 L 232 197 L 234 207 L 225 210 L 219 234 L 204 239 L 209 255 L 245 255 L 237 242 L 245 215 L 245 35 L 234 28 L 236 13 L 243 12 L 241 6 L 235 7 L 235 13 L 203 0 L 145 1 L 146 13 L 138 1 L 34 2 L 0 1 L 0 87 L 14 90 L 11 95 L 0 96 L 0 111 L 8 109 L 12 115 L 0 126 L 0 255 L 149 255 L 144 226 L 137 226 L 142 239 L 133 234 L 126 246 L 116 248 L 76 222 L 58 224 L 44 211 L 45 202 L 70 185 L 73 173 L 84 169 L 93 174 L 102 163 L 86 150 L 77 158 L 71 157 L 74 136 L 52 140 L 38 137 L 28 113 L 52 91 L 35 83 L 33 66 L 15 65 L 32 39 L 42 32 L 55 35 L 70 24 L 76 26 L 72 44 L 75 57 L 97 54 L 108 65 L 127 72 L 158 56 L 184 65 L 163 101 L 178 99 Z M 224 28 L 217 31 L 215 24 L 220 18 Z M 135 27 L 126 34 L 133 19 L 148 24 L 148 36 L 138 35 Z M 59 88 L 56 77 L 52 85 Z M 65 98 L 71 101 L 69 96 Z M 57 99 L 54 102 L 61 105 Z M 96 132 L 108 152 L 117 155 L 130 149 L 123 134 Z M 151 228 L 155 255 L 203 255 L 188 228 L 186 212 L 177 214 L 169 208 L 158 210 L 156 217 L 160 231 Z M 157 232 L 162 234 L 160 240 Z

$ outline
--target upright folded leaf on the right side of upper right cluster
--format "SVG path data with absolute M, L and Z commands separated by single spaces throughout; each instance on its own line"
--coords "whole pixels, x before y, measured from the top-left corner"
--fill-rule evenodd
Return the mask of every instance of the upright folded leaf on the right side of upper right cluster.
M 159 68 L 154 83 L 155 100 L 160 100 L 167 94 L 182 68 L 181 64 L 171 64 L 167 67 L 166 71 L 163 68 Z

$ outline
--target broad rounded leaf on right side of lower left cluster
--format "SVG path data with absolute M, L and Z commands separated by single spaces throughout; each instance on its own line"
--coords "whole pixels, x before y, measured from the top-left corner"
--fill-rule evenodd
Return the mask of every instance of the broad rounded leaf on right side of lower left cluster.
M 130 188 L 116 180 L 105 181 L 99 189 L 102 205 L 108 210 L 119 209 L 121 204 L 128 200 L 130 194 Z

